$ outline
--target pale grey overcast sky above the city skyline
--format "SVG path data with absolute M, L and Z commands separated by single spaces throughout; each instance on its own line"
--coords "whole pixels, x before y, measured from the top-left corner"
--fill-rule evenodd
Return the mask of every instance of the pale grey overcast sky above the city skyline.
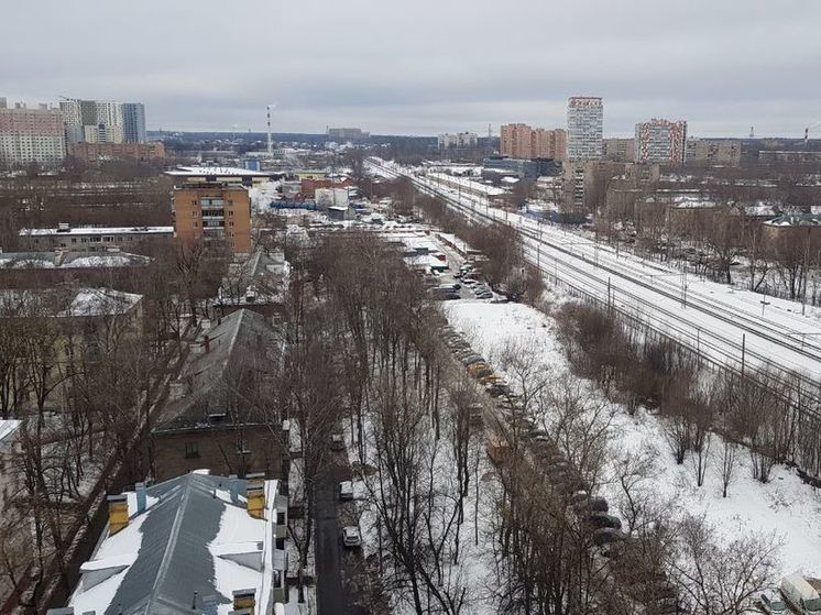
M 818 0 L 3 2 L 0 96 L 142 101 L 149 129 L 380 134 L 563 127 L 800 136 L 821 120 Z M 821 127 L 814 134 L 821 138 Z

